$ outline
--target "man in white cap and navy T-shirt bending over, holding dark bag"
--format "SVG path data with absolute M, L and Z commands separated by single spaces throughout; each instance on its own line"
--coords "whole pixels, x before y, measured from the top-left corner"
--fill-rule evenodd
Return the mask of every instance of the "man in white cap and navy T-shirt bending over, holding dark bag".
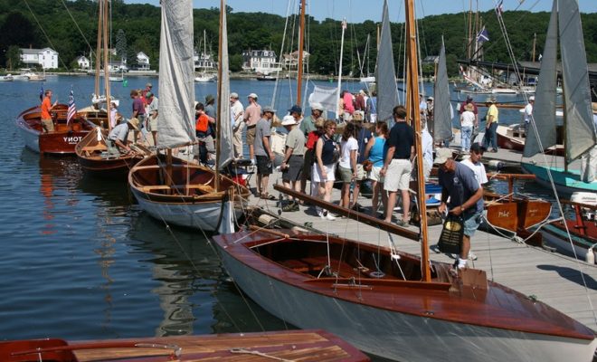
M 453 271 L 458 274 L 466 268 L 470 238 L 479 228 L 483 212 L 483 187 L 475 177 L 475 173 L 452 158 L 450 148 L 438 148 L 435 151 L 434 164 L 438 166 L 438 179 L 441 186 L 440 213 L 446 210 L 450 214 L 461 216 L 464 222 L 464 237 L 460 247 L 460 257 L 454 262 Z M 450 198 L 450 203 L 448 203 Z

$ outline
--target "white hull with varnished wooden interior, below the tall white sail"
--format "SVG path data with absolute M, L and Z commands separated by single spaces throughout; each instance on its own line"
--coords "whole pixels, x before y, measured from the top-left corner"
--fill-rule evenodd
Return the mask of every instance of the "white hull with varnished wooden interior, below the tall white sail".
M 180 158 L 147 157 L 132 167 L 128 185 L 143 210 L 169 224 L 213 232 L 223 215 L 223 204 L 232 201 L 233 214 L 239 218 L 251 191 L 228 176 L 220 175 L 215 187 L 213 169 L 190 164 Z

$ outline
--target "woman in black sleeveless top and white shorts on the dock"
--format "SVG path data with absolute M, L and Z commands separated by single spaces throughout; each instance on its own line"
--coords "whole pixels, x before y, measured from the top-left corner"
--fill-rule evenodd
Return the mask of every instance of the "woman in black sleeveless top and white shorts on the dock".
M 315 167 L 313 167 L 312 182 L 319 184 L 318 197 L 323 197 L 324 201 L 332 200 L 332 187 L 336 177 L 336 161 L 334 154 L 337 150 L 336 142 L 332 139 L 336 132 L 336 122 L 327 120 L 324 124 L 324 134 L 317 139 L 315 146 Z M 325 210 L 317 209 L 317 214 L 327 220 L 335 220 L 332 214 Z

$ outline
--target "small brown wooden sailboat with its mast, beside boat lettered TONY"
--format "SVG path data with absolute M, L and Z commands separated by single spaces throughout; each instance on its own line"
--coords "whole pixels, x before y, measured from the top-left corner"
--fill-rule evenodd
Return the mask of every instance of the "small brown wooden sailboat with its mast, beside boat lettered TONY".
M 100 11 L 98 12 L 98 48 L 97 54 L 103 53 L 104 68 L 104 90 L 106 92 L 106 104 L 112 101 L 109 88 L 109 59 L 108 59 L 108 29 L 109 29 L 109 1 L 101 0 L 99 2 Z M 102 45 L 103 43 L 103 45 Z M 102 51 L 103 49 L 103 51 Z M 100 94 L 100 62 L 96 63 L 96 81 L 95 94 Z M 106 112 L 107 122 L 98 126 L 94 132 L 90 132 L 81 139 L 81 142 L 75 148 L 75 153 L 79 159 L 81 167 L 86 172 L 103 177 L 122 177 L 127 176 L 130 167 L 137 164 L 138 161 L 147 157 L 151 152 L 140 145 L 136 145 L 135 152 L 121 155 L 119 157 L 108 157 L 106 151 L 106 142 L 111 129 L 111 113 Z M 133 142 L 127 141 L 129 146 L 133 147 Z

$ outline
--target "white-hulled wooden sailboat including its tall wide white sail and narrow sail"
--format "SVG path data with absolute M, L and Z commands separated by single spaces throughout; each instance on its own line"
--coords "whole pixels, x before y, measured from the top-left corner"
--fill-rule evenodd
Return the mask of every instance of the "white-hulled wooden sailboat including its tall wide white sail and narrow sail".
M 207 232 L 232 230 L 233 217 L 242 215 L 251 192 L 221 173 L 232 162 L 225 10 L 220 22 L 215 169 L 172 155 L 172 148 L 196 142 L 192 7 L 190 0 L 162 4 L 157 147 L 166 149 L 166 155 L 139 162 L 128 174 L 128 185 L 141 208 L 158 220 Z

